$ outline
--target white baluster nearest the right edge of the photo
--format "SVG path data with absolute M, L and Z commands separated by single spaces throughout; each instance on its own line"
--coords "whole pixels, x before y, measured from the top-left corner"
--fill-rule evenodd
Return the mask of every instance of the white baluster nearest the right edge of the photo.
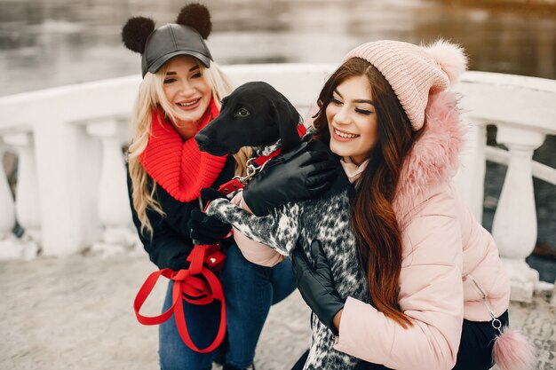
M 544 134 L 499 126 L 496 141 L 507 146 L 510 162 L 492 224 L 492 235 L 512 282 L 512 300 L 531 302 L 538 272 L 525 258 L 536 245 L 536 207 L 531 174 L 533 151 Z

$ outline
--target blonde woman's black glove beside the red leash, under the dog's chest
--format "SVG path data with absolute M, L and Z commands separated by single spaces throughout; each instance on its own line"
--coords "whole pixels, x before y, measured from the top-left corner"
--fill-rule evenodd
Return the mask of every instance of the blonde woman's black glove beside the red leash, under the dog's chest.
M 226 198 L 226 195 L 212 188 L 203 189 L 201 194 L 209 201 Z M 216 216 L 208 216 L 201 209 L 192 209 L 187 228 L 190 230 L 189 236 L 195 244 L 216 244 L 230 232 L 232 225 L 224 224 Z

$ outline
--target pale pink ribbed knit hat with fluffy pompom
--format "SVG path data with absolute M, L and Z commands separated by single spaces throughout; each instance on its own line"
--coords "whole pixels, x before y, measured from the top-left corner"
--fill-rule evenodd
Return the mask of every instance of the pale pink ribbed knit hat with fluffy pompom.
M 448 89 L 467 67 L 464 50 L 444 40 L 430 46 L 389 40 L 363 43 L 349 51 L 344 62 L 352 58 L 369 61 L 385 76 L 413 130 L 423 127 L 429 94 Z

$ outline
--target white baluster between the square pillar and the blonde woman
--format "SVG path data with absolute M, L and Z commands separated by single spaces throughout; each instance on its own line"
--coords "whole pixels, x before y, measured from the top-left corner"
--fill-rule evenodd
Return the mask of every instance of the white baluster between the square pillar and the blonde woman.
M 115 119 L 95 121 L 87 124 L 87 133 L 99 138 L 102 144 L 97 210 L 104 231 L 92 250 L 105 255 L 119 253 L 137 240 L 131 230 L 131 209 L 122 154 L 125 126 Z

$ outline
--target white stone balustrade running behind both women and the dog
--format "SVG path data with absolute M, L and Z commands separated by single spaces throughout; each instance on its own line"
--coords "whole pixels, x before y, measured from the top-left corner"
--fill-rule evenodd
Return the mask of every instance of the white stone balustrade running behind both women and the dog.
M 305 116 L 335 67 L 223 68 L 236 85 L 256 80 L 271 83 Z M 123 121 L 131 114 L 139 83 L 140 76 L 133 75 L 0 98 L 0 137 L 25 128 L 35 141 L 44 254 L 77 253 L 95 242 L 124 243 L 123 234 L 110 230 L 129 228 L 120 146 Z M 462 95 L 465 122 L 472 124 L 456 179 L 458 192 L 481 219 L 485 161 L 509 165 L 494 236 L 512 276 L 512 298 L 527 301 L 536 284 L 524 261 L 536 241 L 531 176 L 556 184 L 556 169 L 532 161 L 531 154 L 545 135 L 556 135 L 556 81 L 467 72 L 455 90 Z M 509 151 L 486 146 L 487 124 L 496 125 L 497 140 Z

